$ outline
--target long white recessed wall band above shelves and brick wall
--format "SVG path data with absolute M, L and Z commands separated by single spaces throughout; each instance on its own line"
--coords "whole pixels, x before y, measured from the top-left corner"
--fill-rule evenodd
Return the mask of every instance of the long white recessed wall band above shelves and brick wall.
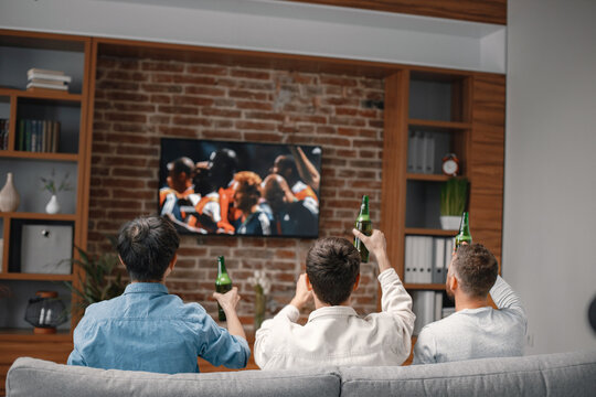
M 0 28 L 504 73 L 505 28 L 272 0 L 0 0 Z

